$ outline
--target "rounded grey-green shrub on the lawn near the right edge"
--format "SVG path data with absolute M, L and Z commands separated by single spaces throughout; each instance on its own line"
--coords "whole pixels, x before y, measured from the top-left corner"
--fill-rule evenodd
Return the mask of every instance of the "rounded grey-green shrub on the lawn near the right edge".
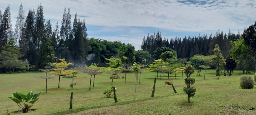
M 243 76 L 240 78 L 240 86 L 243 89 L 252 89 L 254 85 L 254 81 L 250 76 Z

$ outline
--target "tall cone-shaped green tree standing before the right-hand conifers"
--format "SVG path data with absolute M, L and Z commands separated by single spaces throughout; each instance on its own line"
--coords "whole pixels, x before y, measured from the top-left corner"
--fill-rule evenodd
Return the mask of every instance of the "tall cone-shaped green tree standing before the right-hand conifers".
M 215 44 L 215 48 L 213 50 L 214 52 L 214 58 L 211 60 L 211 65 L 214 65 L 217 67 L 217 76 L 219 76 L 219 69 L 223 68 L 223 66 L 226 64 L 224 57 L 222 56 L 221 50 L 219 49 L 219 45 Z

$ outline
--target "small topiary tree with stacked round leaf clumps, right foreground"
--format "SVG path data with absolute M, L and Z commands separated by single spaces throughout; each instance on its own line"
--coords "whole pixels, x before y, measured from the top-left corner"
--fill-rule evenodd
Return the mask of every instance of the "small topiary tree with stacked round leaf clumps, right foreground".
M 191 87 L 191 85 L 195 83 L 195 79 L 190 78 L 190 75 L 193 74 L 194 72 L 195 72 L 195 69 L 192 65 L 188 65 L 184 70 L 184 73 L 187 76 L 187 78 L 184 79 L 187 87 L 184 87 L 183 90 L 188 95 L 188 102 L 190 102 L 189 100 L 190 97 L 194 97 L 196 94 L 196 87 Z

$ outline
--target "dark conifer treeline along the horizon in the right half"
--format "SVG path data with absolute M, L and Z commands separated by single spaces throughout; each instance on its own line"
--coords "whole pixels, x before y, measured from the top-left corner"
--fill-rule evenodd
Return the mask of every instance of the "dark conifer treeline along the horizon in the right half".
M 207 34 L 201 36 L 199 34 L 198 37 L 184 37 L 182 38 L 172 38 L 166 39 L 161 36 L 159 31 L 154 34 L 148 34 L 147 37 L 143 38 L 141 49 L 142 51 L 148 51 L 153 55 L 153 52 L 156 48 L 159 47 L 168 47 L 177 52 L 178 58 L 186 58 L 189 59 L 193 57 L 195 54 L 202 55 L 212 55 L 214 54 L 213 49 L 215 44 L 220 46 L 220 50 L 223 53 L 223 56 L 227 58 L 229 54 L 229 50 L 231 49 L 230 41 L 235 41 L 236 39 L 240 39 L 241 33 L 238 31 L 237 34 L 232 33 L 230 30 L 227 33 L 223 33 L 223 31 L 218 30 L 216 34 L 208 37 Z

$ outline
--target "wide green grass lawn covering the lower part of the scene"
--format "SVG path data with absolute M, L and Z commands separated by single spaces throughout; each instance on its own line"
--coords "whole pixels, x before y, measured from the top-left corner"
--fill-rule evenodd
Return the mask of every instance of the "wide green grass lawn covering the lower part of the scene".
M 77 85 L 73 90 L 69 87 L 72 83 L 70 78 L 59 77 L 48 79 L 47 93 L 45 93 L 46 80 L 37 79 L 33 76 L 43 75 L 40 72 L 26 72 L 22 74 L 0 74 L 0 114 L 6 114 L 8 109 L 12 114 L 21 114 L 17 104 L 8 99 L 12 93 L 19 92 L 27 94 L 41 92 L 39 99 L 35 102 L 26 114 L 256 114 L 256 85 L 253 89 L 242 89 L 240 77 L 244 75 L 254 76 L 255 74 L 241 74 L 234 71 L 232 76 L 220 76 L 216 79 L 215 70 L 206 70 L 201 75 L 191 75 L 196 79 L 192 86 L 196 87 L 196 95 L 187 102 L 187 95 L 183 92 L 186 86 L 182 74 L 172 74 L 170 79 L 165 74 L 158 72 L 156 80 L 155 96 L 151 97 L 154 77 L 156 72 L 141 73 L 141 84 L 137 82 L 135 92 L 135 74 L 126 74 L 126 84 L 120 73 L 120 79 L 114 79 L 111 85 L 110 74 L 103 73 L 95 76 L 95 86 L 89 90 L 90 75 L 78 73 L 78 76 L 86 78 L 74 79 Z M 183 78 L 185 78 L 183 74 Z M 177 94 L 174 93 L 171 85 L 164 85 L 165 81 L 173 82 Z M 92 79 L 93 82 L 93 79 Z M 118 102 L 114 102 L 114 96 L 106 98 L 103 91 L 115 86 L 118 89 L 116 96 Z M 73 109 L 69 110 L 70 94 L 73 92 Z M 113 94 L 113 93 L 112 93 Z

